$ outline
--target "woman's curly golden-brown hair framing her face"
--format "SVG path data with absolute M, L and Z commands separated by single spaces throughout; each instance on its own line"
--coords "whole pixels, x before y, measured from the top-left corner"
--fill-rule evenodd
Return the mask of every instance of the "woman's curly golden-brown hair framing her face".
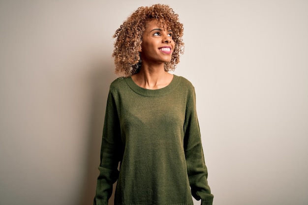
M 180 54 L 184 54 L 183 24 L 179 22 L 179 15 L 168 5 L 154 4 L 150 7 L 139 7 L 113 35 L 116 41 L 112 57 L 115 60 L 115 73 L 117 75 L 128 77 L 139 72 L 142 64 L 139 53 L 142 36 L 146 24 L 155 19 L 162 25 L 167 25 L 173 31 L 172 38 L 175 48 L 171 61 L 164 63 L 164 70 L 168 72 L 176 68 L 176 64 L 180 62 Z

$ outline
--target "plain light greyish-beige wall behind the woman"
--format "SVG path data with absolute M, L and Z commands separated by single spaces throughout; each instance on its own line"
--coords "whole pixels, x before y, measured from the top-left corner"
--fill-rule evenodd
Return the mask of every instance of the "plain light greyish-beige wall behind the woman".
M 185 26 L 214 204 L 308 204 L 307 0 L 0 0 L 1 205 L 92 203 L 111 36 L 156 2 Z

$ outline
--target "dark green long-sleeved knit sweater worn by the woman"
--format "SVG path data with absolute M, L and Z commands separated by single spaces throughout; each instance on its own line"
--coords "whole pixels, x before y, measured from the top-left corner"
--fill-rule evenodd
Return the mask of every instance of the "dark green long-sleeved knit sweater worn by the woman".
M 174 75 L 164 88 L 145 89 L 131 77 L 110 85 L 94 205 L 212 205 L 195 91 Z M 120 171 L 118 164 L 120 162 Z

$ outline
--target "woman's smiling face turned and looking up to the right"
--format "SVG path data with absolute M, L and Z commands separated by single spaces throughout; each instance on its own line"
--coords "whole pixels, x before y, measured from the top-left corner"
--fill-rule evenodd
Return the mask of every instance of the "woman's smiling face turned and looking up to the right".
M 140 52 L 142 62 L 170 62 L 174 46 L 172 30 L 160 25 L 158 20 L 152 20 L 147 23 L 142 36 Z

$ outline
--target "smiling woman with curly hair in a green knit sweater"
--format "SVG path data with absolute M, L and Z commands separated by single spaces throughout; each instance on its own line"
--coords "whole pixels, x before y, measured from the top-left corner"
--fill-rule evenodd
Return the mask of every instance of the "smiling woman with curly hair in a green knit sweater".
M 140 7 L 114 37 L 94 205 L 212 205 L 195 91 L 168 73 L 183 54 L 183 25 L 167 5 Z M 118 164 L 120 162 L 120 171 Z

